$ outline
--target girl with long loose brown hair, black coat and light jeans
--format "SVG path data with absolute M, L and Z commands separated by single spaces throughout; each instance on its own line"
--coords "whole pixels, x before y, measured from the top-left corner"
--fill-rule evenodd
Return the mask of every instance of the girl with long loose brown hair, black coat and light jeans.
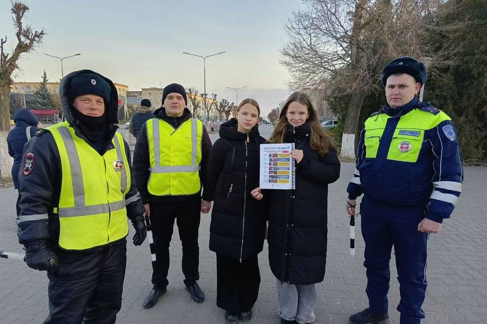
M 296 161 L 296 189 L 264 192 L 278 312 L 282 323 L 309 323 L 315 319 L 315 284 L 325 275 L 328 184 L 340 176 L 340 162 L 304 93 L 295 92 L 288 98 L 269 142 L 295 143 L 291 154 Z M 257 199 L 263 196 L 260 188 L 252 194 Z

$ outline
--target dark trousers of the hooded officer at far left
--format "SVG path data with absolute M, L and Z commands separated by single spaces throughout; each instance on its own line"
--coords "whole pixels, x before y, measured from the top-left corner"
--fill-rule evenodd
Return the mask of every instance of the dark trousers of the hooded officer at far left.
M 83 252 L 59 251 L 48 271 L 49 316 L 44 324 L 113 324 L 122 306 L 127 241 Z

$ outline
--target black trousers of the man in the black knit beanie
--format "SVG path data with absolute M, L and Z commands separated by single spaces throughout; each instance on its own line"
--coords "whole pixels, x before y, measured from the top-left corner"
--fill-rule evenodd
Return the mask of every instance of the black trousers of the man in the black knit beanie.
M 169 284 L 167 280 L 169 244 L 175 219 L 183 247 L 184 283 L 186 286 L 194 284 L 199 279 L 198 229 L 201 218 L 201 199 L 171 203 L 154 201 L 149 202 L 149 207 L 156 253 L 156 261 L 152 262 L 154 289 L 161 290 Z

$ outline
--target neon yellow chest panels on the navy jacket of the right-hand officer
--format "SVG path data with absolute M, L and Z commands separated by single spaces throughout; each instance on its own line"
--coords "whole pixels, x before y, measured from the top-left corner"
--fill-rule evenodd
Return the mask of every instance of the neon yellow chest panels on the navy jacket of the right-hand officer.
M 365 121 L 366 158 L 376 157 L 379 141 L 389 118 L 391 116 L 386 113 L 378 113 Z M 441 110 L 435 115 L 429 111 L 416 108 L 402 115 L 394 130 L 387 159 L 415 163 L 423 145 L 425 131 L 436 127 L 444 120 L 450 119 Z

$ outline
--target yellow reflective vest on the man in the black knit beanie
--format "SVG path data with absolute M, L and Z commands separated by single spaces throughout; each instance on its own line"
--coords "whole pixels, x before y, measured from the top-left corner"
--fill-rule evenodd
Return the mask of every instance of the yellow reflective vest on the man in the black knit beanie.
M 151 175 L 150 194 L 191 195 L 199 192 L 203 123 L 190 118 L 177 129 L 160 118 L 146 121 Z

